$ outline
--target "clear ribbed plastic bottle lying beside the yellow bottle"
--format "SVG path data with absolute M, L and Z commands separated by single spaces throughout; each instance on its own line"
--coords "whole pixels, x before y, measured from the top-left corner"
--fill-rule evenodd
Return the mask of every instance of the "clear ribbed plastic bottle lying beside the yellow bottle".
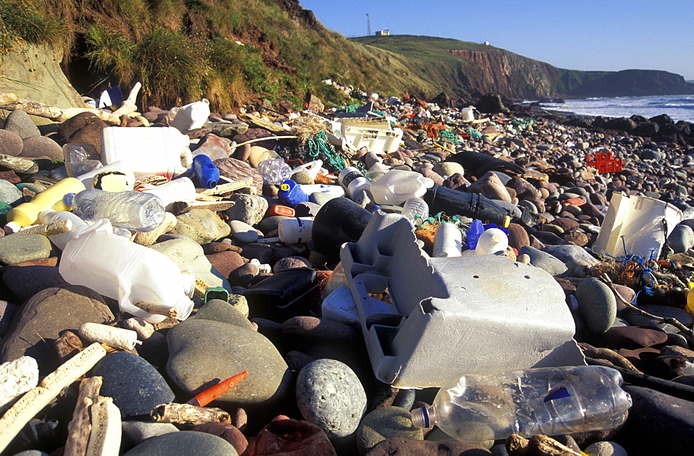
M 162 200 L 149 193 L 92 188 L 65 195 L 65 203 L 83 220 L 109 219 L 113 226 L 133 231 L 151 231 L 164 221 Z

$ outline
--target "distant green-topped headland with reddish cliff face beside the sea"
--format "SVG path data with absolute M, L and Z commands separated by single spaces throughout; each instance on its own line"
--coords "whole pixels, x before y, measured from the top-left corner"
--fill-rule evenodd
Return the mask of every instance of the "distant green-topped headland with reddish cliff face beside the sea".
M 454 94 L 498 92 L 510 99 L 694 94 L 693 84 L 667 71 L 561 69 L 504 49 L 448 38 L 391 35 L 352 40 L 402 55 L 411 67 L 428 74 L 429 81 Z

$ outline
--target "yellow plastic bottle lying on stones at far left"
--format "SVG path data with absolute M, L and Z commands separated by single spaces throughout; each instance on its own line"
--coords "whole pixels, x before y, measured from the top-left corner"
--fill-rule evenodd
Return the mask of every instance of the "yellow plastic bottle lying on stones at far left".
M 70 210 L 71 207 L 62 201 L 68 193 L 78 193 L 85 189 L 81 180 L 76 178 L 65 178 L 60 182 L 51 185 L 43 192 L 37 193 L 28 203 L 22 203 L 16 208 L 12 208 L 7 213 L 7 228 L 16 231 L 24 226 L 40 223 L 39 214 L 46 209 Z

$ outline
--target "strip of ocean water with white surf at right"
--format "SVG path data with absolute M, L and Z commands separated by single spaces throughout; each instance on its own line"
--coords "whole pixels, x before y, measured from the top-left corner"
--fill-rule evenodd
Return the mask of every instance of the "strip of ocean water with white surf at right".
M 573 112 L 580 115 L 629 117 L 633 114 L 650 118 L 667 114 L 673 120 L 694 122 L 694 95 L 618 96 L 614 98 L 564 99 L 566 103 L 541 103 L 546 110 Z M 523 104 L 530 104 L 525 101 Z

